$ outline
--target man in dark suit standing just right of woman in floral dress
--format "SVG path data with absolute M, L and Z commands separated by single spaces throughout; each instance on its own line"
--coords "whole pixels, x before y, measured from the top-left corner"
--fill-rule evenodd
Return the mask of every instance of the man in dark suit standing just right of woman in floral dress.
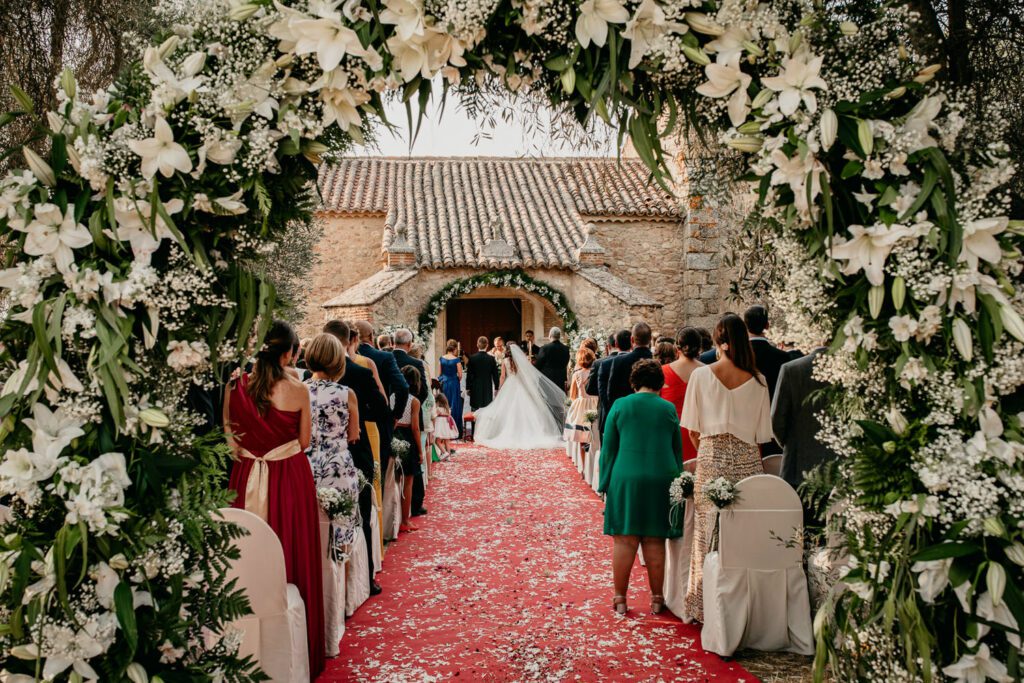
M 348 346 L 350 331 L 348 325 L 342 321 L 331 321 L 324 326 L 324 332 L 337 337 L 343 346 Z M 345 364 L 345 374 L 341 376 L 338 383 L 347 386 L 355 393 L 355 398 L 359 405 L 359 440 L 349 443 L 348 452 L 352 454 L 352 463 L 356 469 L 370 482 L 359 492 L 359 516 L 362 517 L 362 535 L 367 539 L 367 548 L 373 548 L 374 536 L 370 528 L 370 520 L 374 514 L 374 454 L 368 441 L 367 423 L 372 422 L 381 425 L 387 422 L 391 418 L 391 409 L 388 407 L 384 394 L 381 393 L 380 388 L 377 386 L 374 374 L 351 359 Z M 368 564 L 370 569 L 370 594 L 378 595 L 381 592 L 381 587 L 374 580 L 374 563 L 371 561 Z

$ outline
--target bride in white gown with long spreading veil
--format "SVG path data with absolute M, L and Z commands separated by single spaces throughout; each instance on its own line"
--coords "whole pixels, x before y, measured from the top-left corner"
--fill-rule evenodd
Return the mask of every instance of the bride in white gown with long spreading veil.
M 508 349 L 498 396 L 476 412 L 473 440 L 492 449 L 561 445 L 565 392 L 534 368 L 517 344 Z

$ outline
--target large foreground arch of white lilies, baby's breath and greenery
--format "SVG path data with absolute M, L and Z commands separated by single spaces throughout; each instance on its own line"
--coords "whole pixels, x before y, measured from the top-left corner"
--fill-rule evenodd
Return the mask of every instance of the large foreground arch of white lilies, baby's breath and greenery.
M 743 155 L 831 340 L 823 438 L 847 573 L 818 672 L 1020 677 L 1024 223 L 984 122 L 903 44 L 799 0 L 217 0 L 111 88 L 37 112 L 48 153 L 0 181 L 5 680 L 248 680 L 223 625 L 223 449 L 191 400 L 274 306 L 253 267 L 315 163 L 381 112 L 500 84 L 629 135 L 655 179 L 678 120 Z M 187 397 L 187 398 L 186 398 Z M 220 639 L 210 634 L 221 634 Z M 9 656 L 8 656 L 9 655 Z M 941 672 L 941 673 L 940 673 Z

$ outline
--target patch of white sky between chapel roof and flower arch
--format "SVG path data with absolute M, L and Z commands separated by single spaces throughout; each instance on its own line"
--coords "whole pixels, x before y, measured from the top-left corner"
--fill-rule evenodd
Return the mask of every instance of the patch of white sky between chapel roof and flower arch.
M 607 136 L 605 143 L 586 147 L 572 147 L 553 139 L 547 133 L 548 121 L 542 121 L 540 130 L 530 116 L 521 114 L 513 121 L 506 122 L 495 116 L 495 127 L 484 122 L 474 121 L 460 105 L 457 98 L 450 97 L 440 114 L 438 102 L 428 105 L 427 118 L 420 128 L 416 144 L 410 150 L 406 108 L 401 102 L 389 102 L 386 109 L 388 121 L 397 128 L 394 133 L 381 128 L 378 136 L 379 150 L 365 147 L 353 151 L 355 156 L 384 157 L 613 157 L 614 136 Z M 416 125 L 414 108 L 413 125 Z

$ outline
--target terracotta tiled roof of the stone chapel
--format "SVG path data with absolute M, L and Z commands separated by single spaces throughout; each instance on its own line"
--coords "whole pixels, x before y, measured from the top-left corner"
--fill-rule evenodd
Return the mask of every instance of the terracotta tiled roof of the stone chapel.
M 421 267 L 572 268 L 589 217 L 682 217 L 648 176 L 633 159 L 350 158 L 319 187 L 324 211 L 384 214 L 384 249 L 404 231 Z

